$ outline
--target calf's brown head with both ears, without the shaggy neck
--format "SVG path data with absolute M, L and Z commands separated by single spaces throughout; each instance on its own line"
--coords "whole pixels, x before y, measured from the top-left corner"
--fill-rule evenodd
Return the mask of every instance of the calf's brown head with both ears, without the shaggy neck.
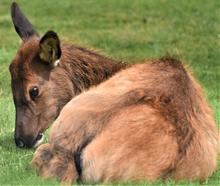
M 57 93 L 61 87 L 56 90 L 57 84 L 66 86 L 57 81 L 61 74 L 57 66 L 61 57 L 57 34 L 48 31 L 40 38 L 16 3 L 12 3 L 11 16 L 23 41 L 9 67 L 16 109 L 15 143 L 30 148 L 42 139 L 42 133 L 57 117 L 59 102 L 66 99 L 68 92 L 63 95 Z

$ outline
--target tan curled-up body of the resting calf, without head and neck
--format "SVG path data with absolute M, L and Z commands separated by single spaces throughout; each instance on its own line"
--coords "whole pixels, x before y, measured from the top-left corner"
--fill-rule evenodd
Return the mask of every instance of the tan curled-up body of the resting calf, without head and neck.
M 181 62 L 136 64 L 65 105 L 32 164 L 62 182 L 205 180 L 218 132 Z

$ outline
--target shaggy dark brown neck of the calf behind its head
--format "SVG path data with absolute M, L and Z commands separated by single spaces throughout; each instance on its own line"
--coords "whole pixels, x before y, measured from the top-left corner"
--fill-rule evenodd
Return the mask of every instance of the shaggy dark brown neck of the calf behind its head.
M 98 85 L 127 66 L 76 46 L 63 45 L 62 50 L 60 63 L 73 85 L 73 96 Z

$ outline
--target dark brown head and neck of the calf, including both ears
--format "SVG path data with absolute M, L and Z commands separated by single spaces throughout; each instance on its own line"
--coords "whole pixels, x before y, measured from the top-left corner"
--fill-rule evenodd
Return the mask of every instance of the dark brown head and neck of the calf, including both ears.
M 11 14 L 23 40 L 9 67 L 16 108 L 15 142 L 32 147 L 72 97 L 126 65 L 64 44 L 53 31 L 40 38 L 16 3 Z

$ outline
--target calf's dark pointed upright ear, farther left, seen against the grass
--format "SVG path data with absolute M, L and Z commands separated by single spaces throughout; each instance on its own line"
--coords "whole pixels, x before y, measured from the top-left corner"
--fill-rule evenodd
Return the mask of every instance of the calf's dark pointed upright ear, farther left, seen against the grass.
M 11 4 L 11 17 L 15 30 L 23 41 L 34 35 L 38 36 L 34 27 L 23 15 L 19 6 L 15 2 Z

